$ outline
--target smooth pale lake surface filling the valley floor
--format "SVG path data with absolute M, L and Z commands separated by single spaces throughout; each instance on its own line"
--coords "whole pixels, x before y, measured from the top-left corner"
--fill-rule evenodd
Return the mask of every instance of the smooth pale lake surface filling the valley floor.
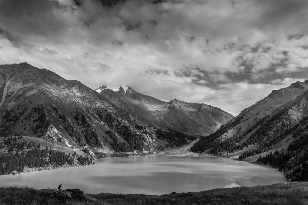
M 224 158 L 163 156 L 108 158 L 95 166 L 0 176 L 0 187 L 79 188 L 84 193 L 161 195 L 214 188 L 285 182 L 282 173 L 266 166 Z

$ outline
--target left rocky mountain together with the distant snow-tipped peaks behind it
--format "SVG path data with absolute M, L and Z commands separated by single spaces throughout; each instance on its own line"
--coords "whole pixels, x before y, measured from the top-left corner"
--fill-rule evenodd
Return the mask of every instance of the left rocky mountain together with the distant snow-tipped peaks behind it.
M 68 151 L 86 147 L 97 155 L 180 146 L 233 117 L 209 105 L 167 103 L 131 88 L 95 91 L 27 63 L 0 65 L 0 99 L 0 136 L 34 137 Z

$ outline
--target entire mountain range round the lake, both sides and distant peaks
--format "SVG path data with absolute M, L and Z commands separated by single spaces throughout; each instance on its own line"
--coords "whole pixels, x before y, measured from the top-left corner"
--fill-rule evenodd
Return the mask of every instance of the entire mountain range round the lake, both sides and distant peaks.
M 24 149 L 46 146 L 50 152 L 36 164 L 28 160 L 30 168 L 45 166 L 52 150 L 71 154 L 55 154 L 68 164 L 73 158 L 89 164 L 198 138 L 192 152 L 257 161 L 278 168 L 288 180 L 308 180 L 308 80 L 274 90 L 233 117 L 211 105 L 165 102 L 132 88 L 93 90 L 27 63 L 0 65 L 0 175 L 14 171 L 6 156 L 24 160 L 19 153 Z

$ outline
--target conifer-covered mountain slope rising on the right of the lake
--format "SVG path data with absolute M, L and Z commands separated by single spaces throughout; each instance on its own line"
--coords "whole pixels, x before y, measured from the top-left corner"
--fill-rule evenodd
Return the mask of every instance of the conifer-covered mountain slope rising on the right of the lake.
M 308 180 L 308 80 L 274 90 L 193 145 L 278 168 L 291 181 Z

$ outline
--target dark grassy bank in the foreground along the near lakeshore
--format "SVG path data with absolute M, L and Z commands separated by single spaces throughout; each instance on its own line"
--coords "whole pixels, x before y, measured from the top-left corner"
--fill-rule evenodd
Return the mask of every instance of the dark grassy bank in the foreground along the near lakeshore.
M 71 191 L 71 196 L 59 195 L 54 189 L 0 187 L 0 204 L 308 204 L 308 183 L 305 182 L 160 196 L 106 193 L 83 195 L 79 189 L 67 190 Z

